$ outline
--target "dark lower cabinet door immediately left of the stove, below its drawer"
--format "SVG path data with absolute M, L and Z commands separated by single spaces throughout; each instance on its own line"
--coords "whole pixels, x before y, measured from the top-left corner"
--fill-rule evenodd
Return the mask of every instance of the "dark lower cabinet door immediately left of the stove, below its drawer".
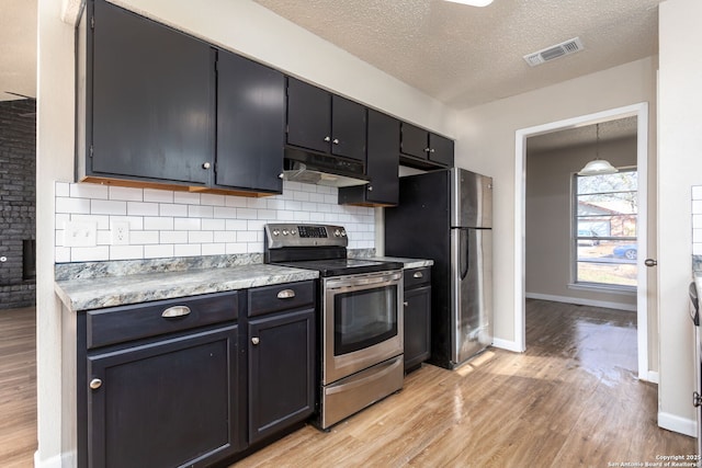
M 249 442 L 307 419 L 315 407 L 315 311 L 249 322 Z

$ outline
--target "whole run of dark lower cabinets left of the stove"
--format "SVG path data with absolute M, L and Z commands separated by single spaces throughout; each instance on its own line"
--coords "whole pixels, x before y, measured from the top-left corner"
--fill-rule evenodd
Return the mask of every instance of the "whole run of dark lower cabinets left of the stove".
M 220 465 L 302 424 L 315 304 L 307 281 L 79 312 L 78 466 Z

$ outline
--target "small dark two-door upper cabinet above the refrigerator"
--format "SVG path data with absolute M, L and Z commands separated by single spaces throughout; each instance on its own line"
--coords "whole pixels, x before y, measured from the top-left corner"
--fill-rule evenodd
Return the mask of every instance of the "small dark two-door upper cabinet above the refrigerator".
M 453 167 L 453 140 L 403 122 L 400 160 L 420 169 Z

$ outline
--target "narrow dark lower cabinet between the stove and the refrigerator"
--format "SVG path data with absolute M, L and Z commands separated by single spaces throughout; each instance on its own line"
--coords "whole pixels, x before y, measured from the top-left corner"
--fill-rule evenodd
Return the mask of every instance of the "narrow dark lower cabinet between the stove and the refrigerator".
M 405 372 L 431 355 L 431 267 L 405 271 Z

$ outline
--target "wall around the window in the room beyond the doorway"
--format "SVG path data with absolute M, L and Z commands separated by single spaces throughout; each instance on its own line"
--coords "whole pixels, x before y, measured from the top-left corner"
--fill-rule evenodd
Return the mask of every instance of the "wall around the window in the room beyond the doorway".
M 635 292 L 605 293 L 570 286 L 573 174 L 595 158 L 596 146 L 533 152 L 529 151 L 528 142 L 526 148 L 524 253 L 528 297 L 636 310 Z M 636 165 L 636 137 L 600 142 L 597 151 L 614 167 Z

